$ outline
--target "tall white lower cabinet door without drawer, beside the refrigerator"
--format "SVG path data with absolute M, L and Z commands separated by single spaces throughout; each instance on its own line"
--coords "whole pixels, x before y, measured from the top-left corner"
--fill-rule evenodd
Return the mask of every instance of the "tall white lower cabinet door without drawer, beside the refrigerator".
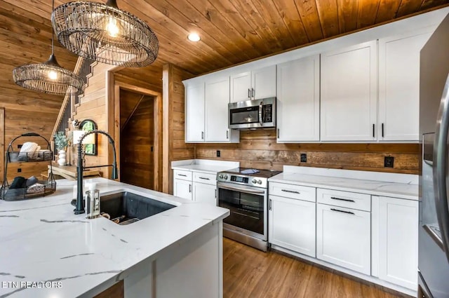
M 418 201 L 373 196 L 373 255 L 378 277 L 417 288 Z M 375 251 L 377 250 L 377 251 Z

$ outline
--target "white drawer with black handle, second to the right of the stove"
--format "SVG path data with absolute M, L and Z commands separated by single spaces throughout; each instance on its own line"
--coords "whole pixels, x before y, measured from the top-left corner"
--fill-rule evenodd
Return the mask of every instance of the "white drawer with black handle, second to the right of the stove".
M 371 196 L 349 191 L 316 189 L 316 201 L 326 205 L 371 211 Z

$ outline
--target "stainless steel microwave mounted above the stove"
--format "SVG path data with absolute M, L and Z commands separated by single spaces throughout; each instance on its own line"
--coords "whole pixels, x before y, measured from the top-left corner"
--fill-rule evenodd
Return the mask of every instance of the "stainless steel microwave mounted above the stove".
M 276 127 L 276 97 L 229 104 L 229 128 L 250 130 Z

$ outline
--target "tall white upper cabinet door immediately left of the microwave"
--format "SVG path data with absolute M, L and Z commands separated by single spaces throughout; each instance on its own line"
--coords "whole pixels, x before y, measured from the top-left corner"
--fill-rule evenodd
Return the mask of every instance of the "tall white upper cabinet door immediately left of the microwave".
M 206 142 L 229 142 L 229 76 L 206 81 Z

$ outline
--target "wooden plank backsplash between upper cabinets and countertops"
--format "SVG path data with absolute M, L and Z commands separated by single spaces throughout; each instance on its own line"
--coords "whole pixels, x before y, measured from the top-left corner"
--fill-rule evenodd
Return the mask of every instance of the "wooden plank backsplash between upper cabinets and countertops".
M 418 174 L 419 144 L 278 144 L 276 130 L 241 131 L 239 144 L 196 144 L 195 157 L 240 161 L 245 168 L 282 170 L 283 165 Z M 220 157 L 217 156 L 220 150 Z M 307 163 L 300 154 L 307 154 Z M 394 168 L 384 168 L 384 156 Z

